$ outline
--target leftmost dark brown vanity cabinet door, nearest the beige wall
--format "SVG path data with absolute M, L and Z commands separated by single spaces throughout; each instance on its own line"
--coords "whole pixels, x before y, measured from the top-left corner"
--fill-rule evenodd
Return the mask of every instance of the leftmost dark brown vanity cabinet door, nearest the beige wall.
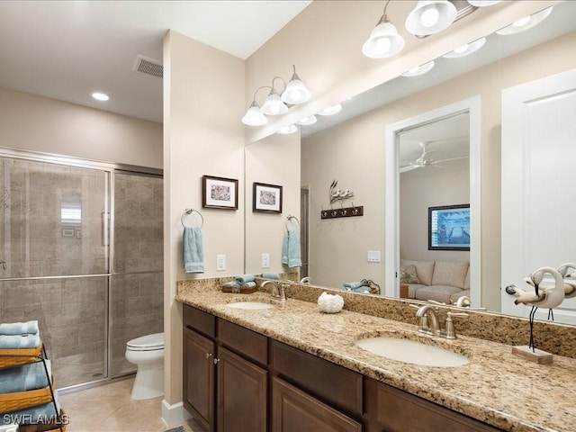
M 214 430 L 214 342 L 184 329 L 184 408 L 204 430 Z

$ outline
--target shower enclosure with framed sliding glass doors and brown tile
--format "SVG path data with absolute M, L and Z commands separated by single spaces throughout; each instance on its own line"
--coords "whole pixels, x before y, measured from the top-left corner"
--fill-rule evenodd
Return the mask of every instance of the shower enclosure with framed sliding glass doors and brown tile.
M 58 388 L 135 372 L 163 331 L 159 170 L 0 149 L 0 322 L 38 320 Z

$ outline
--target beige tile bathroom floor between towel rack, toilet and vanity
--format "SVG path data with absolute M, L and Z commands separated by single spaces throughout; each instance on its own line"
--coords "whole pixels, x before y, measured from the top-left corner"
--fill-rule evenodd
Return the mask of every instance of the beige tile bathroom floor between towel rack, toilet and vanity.
M 134 401 L 130 398 L 132 383 L 133 378 L 59 394 L 60 406 L 70 421 L 67 432 L 164 432 L 176 426 L 182 426 L 184 432 L 202 432 L 193 419 L 167 427 L 161 419 L 163 397 Z

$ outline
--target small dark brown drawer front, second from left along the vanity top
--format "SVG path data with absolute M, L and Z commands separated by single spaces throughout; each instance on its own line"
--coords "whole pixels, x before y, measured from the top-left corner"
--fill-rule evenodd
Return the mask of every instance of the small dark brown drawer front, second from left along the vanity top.
M 227 320 L 218 320 L 218 340 L 238 354 L 268 365 L 268 338 Z

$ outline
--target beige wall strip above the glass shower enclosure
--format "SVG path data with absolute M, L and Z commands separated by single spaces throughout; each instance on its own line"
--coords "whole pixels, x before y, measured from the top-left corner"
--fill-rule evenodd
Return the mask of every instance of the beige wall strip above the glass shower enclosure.
M 2 146 L 162 167 L 162 124 L 0 87 Z

